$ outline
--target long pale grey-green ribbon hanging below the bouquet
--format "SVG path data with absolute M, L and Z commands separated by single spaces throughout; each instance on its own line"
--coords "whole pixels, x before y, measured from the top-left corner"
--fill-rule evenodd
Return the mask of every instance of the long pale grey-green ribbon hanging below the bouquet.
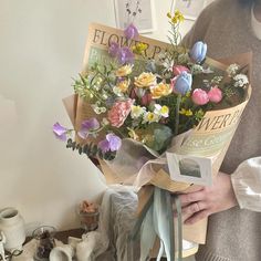
M 177 242 L 175 243 L 175 221 L 173 198 L 177 210 Z M 137 219 L 130 239 L 135 240 L 140 232 L 140 261 L 146 261 L 153 249 L 156 237 L 160 240 L 157 261 L 166 254 L 167 261 L 182 260 L 182 219 L 181 205 L 177 195 L 171 195 L 165 189 L 154 187 L 154 192 L 143 208 Z M 175 244 L 177 259 L 175 259 Z

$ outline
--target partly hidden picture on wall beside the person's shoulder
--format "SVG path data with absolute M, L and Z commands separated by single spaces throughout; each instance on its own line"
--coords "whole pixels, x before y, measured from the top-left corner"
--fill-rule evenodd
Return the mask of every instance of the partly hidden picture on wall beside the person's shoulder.
M 211 1 L 212 0 L 176 0 L 176 4 L 173 4 L 173 7 L 175 10 L 179 10 L 186 19 L 196 20 L 203 8 Z M 174 12 L 174 10 L 171 11 Z

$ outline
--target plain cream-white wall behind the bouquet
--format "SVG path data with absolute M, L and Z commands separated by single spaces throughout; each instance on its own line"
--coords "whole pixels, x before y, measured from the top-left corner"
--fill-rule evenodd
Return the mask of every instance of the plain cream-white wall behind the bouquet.
M 171 1 L 155 2 L 150 36 L 165 41 Z M 29 227 L 73 228 L 75 203 L 105 189 L 90 160 L 52 134 L 56 121 L 70 126 L 61 100 L 81 71 L 92 21 L 114 27 L 113 0 L 0 0 L 0 209 L 18 208 Z

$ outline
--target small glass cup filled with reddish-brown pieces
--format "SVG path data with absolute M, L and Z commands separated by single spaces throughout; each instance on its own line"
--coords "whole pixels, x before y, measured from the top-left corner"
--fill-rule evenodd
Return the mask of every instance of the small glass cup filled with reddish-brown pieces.
M 98 206 L 87 200 L 83 200 L 77 206 L 77 215 L 81 221 L 81 226 L 85 232 L 93 231 L 98 227 L 100 210 Z

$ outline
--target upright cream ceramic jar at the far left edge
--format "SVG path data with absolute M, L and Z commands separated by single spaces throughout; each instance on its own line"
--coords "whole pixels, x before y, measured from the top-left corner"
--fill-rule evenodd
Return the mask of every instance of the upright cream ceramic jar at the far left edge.
M 22 250 L 25 241 L 24 221 L 19 211 L 14 208 L 4 208 L 0 210 L 0 231 L 6 237 L 3 247 L 12 253 L 15 250 Z

